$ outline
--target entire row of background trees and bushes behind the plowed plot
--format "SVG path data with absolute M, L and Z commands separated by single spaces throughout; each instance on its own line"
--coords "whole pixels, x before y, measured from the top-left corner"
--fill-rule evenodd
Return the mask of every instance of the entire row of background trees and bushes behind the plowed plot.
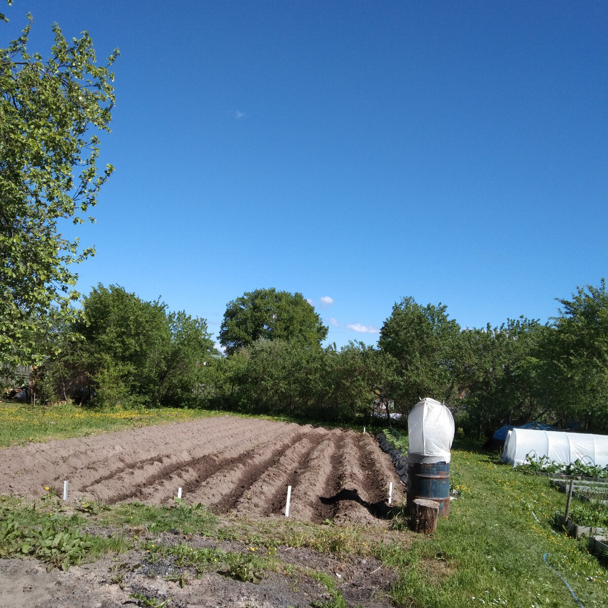
M 227 305 L 220 356 L 204 320 L 98 285 L 80 319 L 53 334 L 50 350 L 61 353 L 45 368 L 55 390 L 75 370 L 86 376 L 96 404 L 368 420 L 374 410 L 407 414 L 431 396 L 473 435 L 539 419 L 606 432 L 606 285 L 559 302 L 550 323 L 520 317 L 463 329 L 445 305 L 406 297 L 377 346 L 337 349 L 322 347 L 327 328 L 300 294 L 257 289 Z

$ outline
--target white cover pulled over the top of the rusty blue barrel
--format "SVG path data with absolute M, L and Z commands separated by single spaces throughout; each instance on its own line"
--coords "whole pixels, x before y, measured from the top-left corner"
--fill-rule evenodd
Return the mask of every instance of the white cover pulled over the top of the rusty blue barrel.
M 454 418 L 446 406 L 430 397 L 418 402 L 407 417 L 407 430 L 407 459 L 410 462 L 430 464 L 450 461 Z

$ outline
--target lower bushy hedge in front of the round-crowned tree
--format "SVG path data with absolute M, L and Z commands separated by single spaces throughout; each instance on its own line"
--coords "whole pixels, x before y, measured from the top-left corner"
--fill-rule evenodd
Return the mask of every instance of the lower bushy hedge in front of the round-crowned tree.
M 216 407 L 323 421 L 369 418 L 386 390 L 389 356 L 362 343 L 341 350 L 258 340 L 209 367 Z

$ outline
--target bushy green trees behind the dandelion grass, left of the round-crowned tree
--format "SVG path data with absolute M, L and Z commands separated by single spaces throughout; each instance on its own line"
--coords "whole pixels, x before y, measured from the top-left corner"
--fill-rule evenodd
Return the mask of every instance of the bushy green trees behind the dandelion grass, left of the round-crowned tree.
M 196 404 L 213 342 L 204 319 L 166 308 L 116 285 L 85 297 L 74 326 L 84 341 L 71 361 L 89 374 L 98 404 Z

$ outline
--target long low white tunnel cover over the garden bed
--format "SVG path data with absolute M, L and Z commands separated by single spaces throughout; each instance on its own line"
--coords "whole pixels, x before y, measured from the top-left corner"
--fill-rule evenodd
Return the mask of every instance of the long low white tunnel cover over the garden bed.
M 608 465 L 608 435 L 565 433 L 558 430 L 512 429 L 506 435 L 502 461 L 523 465 L 526 456 L 543 456 L 564 465 L 580 459 L 586 465 Z

